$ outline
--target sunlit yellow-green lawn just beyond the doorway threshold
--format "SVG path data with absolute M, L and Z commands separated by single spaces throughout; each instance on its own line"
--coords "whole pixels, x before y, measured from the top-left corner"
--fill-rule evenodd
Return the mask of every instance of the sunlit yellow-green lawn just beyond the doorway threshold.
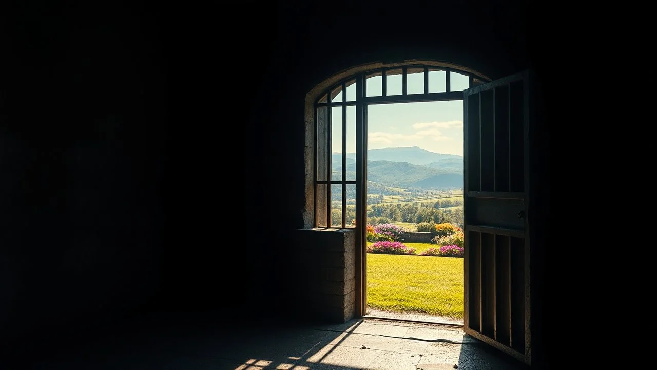
M 417 253 L 435 246 L 404 244 L 416 248 Z M 463 258 L 369 253 L 367 305 L 384 311 L 463 318 Z

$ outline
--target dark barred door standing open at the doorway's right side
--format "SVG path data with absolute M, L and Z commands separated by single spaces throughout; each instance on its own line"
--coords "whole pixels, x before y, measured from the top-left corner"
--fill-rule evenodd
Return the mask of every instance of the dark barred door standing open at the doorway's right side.
M 464 91 L 464 331 L 531 364 L 530 71 Z

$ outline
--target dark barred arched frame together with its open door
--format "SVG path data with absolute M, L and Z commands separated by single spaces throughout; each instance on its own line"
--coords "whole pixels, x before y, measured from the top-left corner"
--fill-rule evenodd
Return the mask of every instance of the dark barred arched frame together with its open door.
M 430 72 L 445 74 L 444 91 L 432 91 Z M 386 76 L 398 74 L 401 92 L 389 93 Z M 411 74 L 424 80 L 423 90 L 408 91 Z M 466 76 L 468 82 L 453 91 L 451 76 Z M 367 93 L 373 77 L 380 77 L 380 95 Z M 367 108 L 463 100 L 464 331 L 530 363 L 529 83 L 528 72 L 490 82 L 468 68 L 409 61 L 355 67 L 308 93 L 306 157 L 311 160 L 306 161 L 304 221 L 307 227 L 355 228 L 357 316 L 367 314 Z M 349 145 L 355 149 L 352 157 Z

